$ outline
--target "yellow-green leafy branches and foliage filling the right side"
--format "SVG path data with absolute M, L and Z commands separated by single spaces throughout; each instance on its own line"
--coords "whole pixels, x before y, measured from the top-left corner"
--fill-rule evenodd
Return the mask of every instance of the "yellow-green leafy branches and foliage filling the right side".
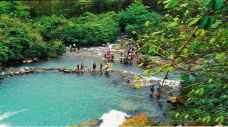
M 158 3 L 163 4 L 168 14 L 162 17 L 161 26 L 148 24 L 137 42 L 143 54 L 156 55 L 165 61 L 155 69 L 148 68 L 146 74 L 152 70 L 167 75 L 173 69 L 183 72 L 180 95 L 186 105 L 168 114 L 178 122 L 228 125 L 225 2 L 158 0 Z M 152 65 L 153 60 L 149 60 Z

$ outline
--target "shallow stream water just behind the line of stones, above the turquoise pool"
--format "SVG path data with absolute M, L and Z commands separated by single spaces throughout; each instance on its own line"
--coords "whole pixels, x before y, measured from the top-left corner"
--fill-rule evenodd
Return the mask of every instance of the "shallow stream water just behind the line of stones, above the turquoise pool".
M 36 62 L 32 64 L 23 64 L 19 67 L 44 67 L 44 68 L 67 68 L 67 69 L 73 69 L 76 68 L 77 64 L 84 64 L 87 67 L 92 68 L 93 63 L 96 63 L 97 68 L 100 67 L 100 64 L 103 64 L 103 67 L 105 65 L 105 60 L 101 58 L 97 58 L 98 54 L 93 52 L 88 53 L 88 51 L 83 51 L 81 53 L 66 53 L 59 58 L 51 59 L 49 61 L 41 61 Z M 116 60 L 111 63 L 113 70 L 125 70 L 125 71 L 131 71 L 138 74 L 142 74 L 144 72 L 144 69 L 139 68 L 137 66 L 136 61 L 133 61 L 130 65 L 125 65 L 120 63 L 120 61 Z M 156 74 L 154 76 L 158 78 L 163 78 L 164 73 Z M 170 72 L 169 79 L 180 79 L 178 72 Z

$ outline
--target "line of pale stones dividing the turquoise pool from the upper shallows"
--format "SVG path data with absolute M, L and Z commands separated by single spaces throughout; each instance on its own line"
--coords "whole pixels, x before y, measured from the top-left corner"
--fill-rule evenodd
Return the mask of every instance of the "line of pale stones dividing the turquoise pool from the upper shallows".
M 75 69 L 65 69 L 65 68 L 35 68 L 35 67 L 21 67 L 21 68 L 11 68 L 2 72 L 0 75 L 0 80 L 8 76 L 19 76 L 30 73 L 42 73 L 42 72 L 62 72 L 68 74 L 77 74 L 77 73 L 96 73 L 96 74 L 105 74 L 105 70 L 93 70 L 91 68 L 85 68 L 83 71 L 77 71 Z M 129 84 L 132 88 L 141 88 L 141 87 L 159 87 L 162 84 L 162 79 L 153 76 L 142 76 L 135 72 L 123 71 L 123 70 L 111 70 L 109 74 L 120 74 L 122 79 Z M 139 85 L 140 86 L 137 86 Z M 178 92 L 179 91 L 180 81 L 177 80 L 165 80 L 162 91 L 166 93 Z

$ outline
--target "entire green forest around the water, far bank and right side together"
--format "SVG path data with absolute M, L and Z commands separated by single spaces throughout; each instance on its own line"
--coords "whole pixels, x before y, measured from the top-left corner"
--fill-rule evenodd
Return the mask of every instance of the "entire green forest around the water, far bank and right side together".
M 227 1 L 37 0 L 0 2 L 0 67 L 61 55 L 65 47 L 138 44 L 144 74 L 180 70 L 176 123 L 228 125 Z M 166 62 L 153 61 L 152 56 Z

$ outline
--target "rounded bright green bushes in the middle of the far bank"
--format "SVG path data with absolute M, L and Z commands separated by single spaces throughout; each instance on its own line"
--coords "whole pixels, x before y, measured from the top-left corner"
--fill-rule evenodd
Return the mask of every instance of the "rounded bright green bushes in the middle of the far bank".
M 115 12 L 94 15 L 85 13 L 72 19 L 63 32 L 63 40 L 79 45 L 100 45 L 112 42 L 119 32 L 118 17 Z

